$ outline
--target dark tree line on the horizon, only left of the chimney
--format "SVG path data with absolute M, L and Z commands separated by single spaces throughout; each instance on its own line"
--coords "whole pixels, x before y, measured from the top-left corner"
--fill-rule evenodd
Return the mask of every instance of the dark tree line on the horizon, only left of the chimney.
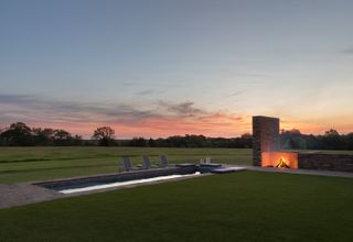
M 51 128 L 30 128 L 23 122 L 12 123 L 0 130 L 0 145 L 2 146 L 71 146 L 71 145 L 101 145 L 101 146 L 137 146 L 137 147 L 252 147 L 252 134 L 239 138 L 206 138 L 204 135 L 170 136 L 167 139 L 133 138 L 131 140 L 116 140 L 115 130 L 110 127 L 97 128 L 90 140 L 73 135 L 65 130 Z

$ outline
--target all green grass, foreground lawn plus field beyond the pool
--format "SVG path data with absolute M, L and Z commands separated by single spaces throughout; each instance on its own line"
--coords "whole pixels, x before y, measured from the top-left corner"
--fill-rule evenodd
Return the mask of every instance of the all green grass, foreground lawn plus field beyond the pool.
M 252 150 L 235 148 L 1 147 L 0 184 L 115 173 L 122 155 L 138 164 L 142 154 L 252 161 Z M 352 187 L 339 177 L 204 176 L 2 209 L 0 241 L 353 241 Z

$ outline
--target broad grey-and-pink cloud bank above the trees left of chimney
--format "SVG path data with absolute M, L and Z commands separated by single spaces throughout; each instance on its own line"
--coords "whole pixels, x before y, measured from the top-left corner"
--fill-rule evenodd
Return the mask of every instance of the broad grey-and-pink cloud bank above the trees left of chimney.
M 1 124 L 15 121 L 31 125 L 66 128 L 89 136 L 97 125 L 108 124 L 124 138 L 168 136 L 199 133 L 234 136 L 249 131 L 246 118 L 226 111 L 210 111 L 193 101 L 160 100 L 147 108 L 135 105 L 55 101 L 40 96 L 0 95 Z

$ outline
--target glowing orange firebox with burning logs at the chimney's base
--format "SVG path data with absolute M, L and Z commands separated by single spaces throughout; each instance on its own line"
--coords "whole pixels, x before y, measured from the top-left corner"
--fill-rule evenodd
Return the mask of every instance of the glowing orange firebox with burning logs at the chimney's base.
M 263 167 L 298 168 L 298 154 L 295 152 L 263 152 Z

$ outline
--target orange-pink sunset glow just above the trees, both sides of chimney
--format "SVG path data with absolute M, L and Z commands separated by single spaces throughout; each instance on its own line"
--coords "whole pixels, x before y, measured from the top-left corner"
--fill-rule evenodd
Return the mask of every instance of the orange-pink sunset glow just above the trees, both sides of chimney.
M 205 117 L 193 118 L 162 118 L 133 120 L 131 122 L 52 122 L 28 123 L 30 127 L 52 128 L 67 130 L 72 134 L 78 134 L 89 139 L 93 131 L 103 125 L 109 125 L 116 131 L 116 139 L 168 138 L 172 135 L 203 134 L 205 136 L 234 138 L 244 133 L 252 133 L 252 117 L 235 117 L 226 113 L 215 113 Z M 281 120 L 280 129 L 298 129 L 303 134 L 323 134 L 331 129 L 322 124 L 302 123 L 298 121 Z M 333 129 L 335 129 L 333 127 Z M 340 132 L 352 132 L 353 127 L 345 125 L 338 129 Z

